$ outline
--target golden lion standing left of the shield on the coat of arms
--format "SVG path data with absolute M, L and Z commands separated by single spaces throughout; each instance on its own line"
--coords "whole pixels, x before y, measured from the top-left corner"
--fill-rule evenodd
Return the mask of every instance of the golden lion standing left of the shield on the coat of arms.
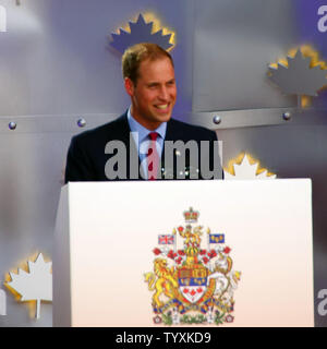
M 179 287 L 177 280 L 177 270 L 167 266 L 167 261 L 162 258 L 156 258 L 154 262 L 155 273 L 144 274 L 145 281 L 148 282 L 148 289 L 150 291 L 156 290 L 153 296 L 154 305 L 158 308 L 164 303 L 159 300 L 159 297 L 164 293 L 169 298 L 173 298 L 173 289 Z

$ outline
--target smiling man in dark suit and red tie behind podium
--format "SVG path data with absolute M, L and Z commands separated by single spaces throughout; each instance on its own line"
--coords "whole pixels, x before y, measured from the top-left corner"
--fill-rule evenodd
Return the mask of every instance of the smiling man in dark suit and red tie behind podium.
M 131 107 L 72 139 L 65 182 L 221 177 L 216 133 L 171 119 L 171 56 L 155 44 L 137 44 L 124 52 L 122 71 Z

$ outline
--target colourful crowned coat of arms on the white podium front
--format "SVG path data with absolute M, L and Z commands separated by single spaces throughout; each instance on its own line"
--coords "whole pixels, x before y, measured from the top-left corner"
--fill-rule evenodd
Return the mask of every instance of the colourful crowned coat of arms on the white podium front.
M 223 233 L 197 225 L 199 213 L 184 212 L 185 226 L 158 237 L 154 272 L 144 275 L 154 291 L 155 324 L 216 324 L 233 322 L 233 293 L 241 273 L 232 268 L 231 249 Z M 177 249 L 178 236 L 183 248 Z M 202 237 L 207 238 L 207 249 Z

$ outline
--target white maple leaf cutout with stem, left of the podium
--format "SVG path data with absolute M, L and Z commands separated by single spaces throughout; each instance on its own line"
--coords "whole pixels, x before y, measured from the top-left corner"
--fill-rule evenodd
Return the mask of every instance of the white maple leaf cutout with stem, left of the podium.
M 35 262 L 28 261 L 28 270 L 19 268 L 19 273 L 9 273 L 11 281 L 8 286 L 19 292 L 21 302 L 36 300 L 36 318 L 40 318 L 40 302 L 52 301 L 52 262 L 45 262 L 41 253 Z

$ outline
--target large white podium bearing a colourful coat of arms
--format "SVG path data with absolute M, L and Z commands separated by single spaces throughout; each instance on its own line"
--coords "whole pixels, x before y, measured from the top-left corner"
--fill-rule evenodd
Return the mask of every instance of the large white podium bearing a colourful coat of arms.
M 314 326 L 311 200 L 308 179 L 70 183 L 53 326 Z

